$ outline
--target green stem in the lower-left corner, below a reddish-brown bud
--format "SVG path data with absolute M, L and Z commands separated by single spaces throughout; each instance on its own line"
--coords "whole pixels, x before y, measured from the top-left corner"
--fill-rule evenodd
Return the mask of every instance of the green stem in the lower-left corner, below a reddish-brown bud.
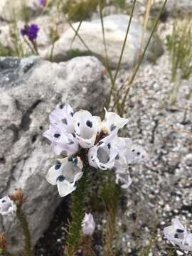
M 26 215 L 23 213 L 21 206 L 17 207 L 16 216 L 21 223 L 21 228 L 23 228 L 23 235 L 25 238 L 23 255 L 24 256 L 32 256 L 33 252 L 32 252 L 32 247 L 31 247 L 31 233 L 28 228 L 28 221 L 27 221 Z

